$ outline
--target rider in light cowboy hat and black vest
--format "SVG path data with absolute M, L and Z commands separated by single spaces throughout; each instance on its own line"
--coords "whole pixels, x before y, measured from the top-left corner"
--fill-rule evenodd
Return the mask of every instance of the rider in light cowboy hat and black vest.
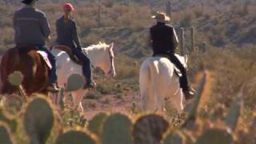
M 173 26 L 167 26 L 166 22 L 170 21 L 170 18 L 165 13 L 158 12 L 153 16 L 157 22 L 155 26 L 150 28 L 150 46 L 153 47 L 154 55 L 167 54 L 170 62 L 181 71 L 182 77 L 180 78 L 180 86 L 186 99 L 193 98 L 194 92 L 190 90 L 186 76 L 186 69 L 182 66 L 182 63 L 175 56 L 174 52 L 178 46 L 178 37 Z

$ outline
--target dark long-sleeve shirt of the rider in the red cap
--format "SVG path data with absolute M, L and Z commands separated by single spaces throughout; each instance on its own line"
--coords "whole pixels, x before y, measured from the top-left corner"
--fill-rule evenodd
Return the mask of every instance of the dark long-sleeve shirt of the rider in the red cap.
M 75 47 L 81 49 L 76 22 L 73 19 L 66 21 L 64 16 L 58 18 L 56 21 L 56 30 L 56 42 L 58 45 L 70 46 L 71 49 Z

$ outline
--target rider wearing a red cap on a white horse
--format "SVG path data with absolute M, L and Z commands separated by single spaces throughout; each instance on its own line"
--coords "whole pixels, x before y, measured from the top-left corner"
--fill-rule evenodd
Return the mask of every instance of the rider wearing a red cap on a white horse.
M 92 89 L 96 83 L 92 79 L 92 71 L 90 59 L 82 52 L 82 46 L 77 32 L 77 25 L 73 18 L 71 18 L 74 6 L 70 3 L 63 5 L 64 15 L 56 21 L 57 30 L 57 44 L 65 45 L 71 48 L 72 53 L 82 62 L 82 73 L 86 80 L 84 89 Z

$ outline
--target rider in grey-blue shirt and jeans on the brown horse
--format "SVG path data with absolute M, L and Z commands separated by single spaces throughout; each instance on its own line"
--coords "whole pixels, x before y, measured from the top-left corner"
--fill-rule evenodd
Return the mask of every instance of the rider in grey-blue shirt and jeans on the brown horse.
M 38 0 L 23 0 L 25 6 L 14 13 L 14 42 L 16 46 L 36 46 L 48 54 L 52 65 L 49 71 L 49 86 L 47 90 L 58 90 L 56 75 L 56 60 L 45 46 L 46 40 L 50 38 L 50 26 L 46 14 L 35 8 Z

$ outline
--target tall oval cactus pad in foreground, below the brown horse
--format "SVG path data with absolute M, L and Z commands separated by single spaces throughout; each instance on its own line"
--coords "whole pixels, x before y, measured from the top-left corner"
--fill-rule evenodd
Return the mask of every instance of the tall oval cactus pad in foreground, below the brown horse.
M 31 143 L 46 143 L 54 126 L 54 112 L 45 98 L 34 98 L 26 106 L 23 119 Z

